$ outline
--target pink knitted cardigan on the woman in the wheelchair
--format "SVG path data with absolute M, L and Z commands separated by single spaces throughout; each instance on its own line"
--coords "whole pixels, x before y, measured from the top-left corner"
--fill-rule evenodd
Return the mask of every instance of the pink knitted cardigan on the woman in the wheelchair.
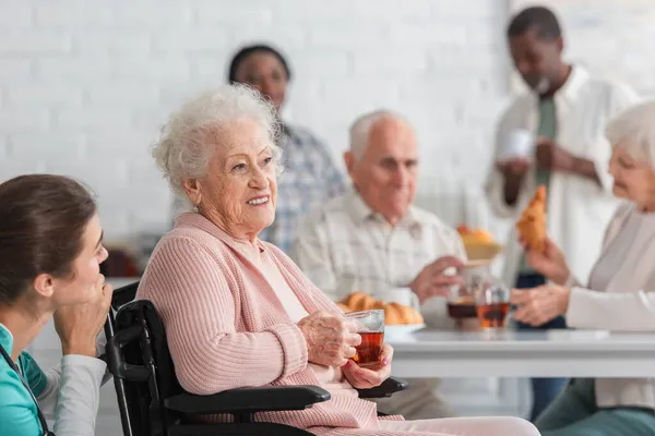
M 307 365 L 302 334 L 275 291 L 234 249 L 239 243 L 201 215 L 180 215 L 141 280 L 138 299 L 151 300 L 159 311 L 180 384 L 200 395 L 249 386 L 319 385 Z M 282 251 L 258 243 L 308 313 L 338 311 Z M 308 410 L 259 413 L 258 419 L 315 434 L 398 434 L 378 429 L 373 402 L 338 392 Z

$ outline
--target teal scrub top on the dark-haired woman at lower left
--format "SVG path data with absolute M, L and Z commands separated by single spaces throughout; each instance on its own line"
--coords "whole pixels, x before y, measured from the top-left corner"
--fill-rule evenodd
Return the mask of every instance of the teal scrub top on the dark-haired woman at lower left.
M 7 351 L 7 354 L 11 355 L 13 337 L 2 324 L 0 324 L 0 346 Z M 21 370 L 34 397 L 38 397 L 46 389 L 48 383 L 44 372 L 26 352 L 21 353 L 16 366 Z M 43 435 L 36 402 L 29 390 L 0 355 L 0 435 Z

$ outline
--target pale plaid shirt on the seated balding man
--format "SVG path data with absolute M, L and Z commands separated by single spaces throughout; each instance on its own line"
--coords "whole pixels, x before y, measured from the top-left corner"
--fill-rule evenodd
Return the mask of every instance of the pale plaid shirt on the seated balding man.
M 291 249 L 294 262 L 333 301 L 355 291 L 384 300 L 386 290 L 408 286 L 448 254 L 466 258 L 458 233 L 436 215 L 412 206 L 391 227 L 354 190 L 312 210 Z

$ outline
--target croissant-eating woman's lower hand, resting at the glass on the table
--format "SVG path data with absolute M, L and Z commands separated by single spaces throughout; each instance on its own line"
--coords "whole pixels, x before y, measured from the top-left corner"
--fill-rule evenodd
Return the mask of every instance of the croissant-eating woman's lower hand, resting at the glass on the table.
M 571 290 L 559 284 L 512 290 L 511 303 L 519 306 L 514 319 L 540 326 L 567 313 Z

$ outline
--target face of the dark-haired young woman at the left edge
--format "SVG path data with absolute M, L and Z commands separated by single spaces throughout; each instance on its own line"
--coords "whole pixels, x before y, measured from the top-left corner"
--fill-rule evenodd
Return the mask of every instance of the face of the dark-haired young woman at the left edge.
M 95 283 L 100 274 L 100 264 L 107 259 L 103 246 L 103 228 L 98 215 L 86 225 L 82 237 L 82 251 L 72 264 L 72 278 L 53 279 L 52 302 L 55 306 L 85 303 L 96 292 Z

